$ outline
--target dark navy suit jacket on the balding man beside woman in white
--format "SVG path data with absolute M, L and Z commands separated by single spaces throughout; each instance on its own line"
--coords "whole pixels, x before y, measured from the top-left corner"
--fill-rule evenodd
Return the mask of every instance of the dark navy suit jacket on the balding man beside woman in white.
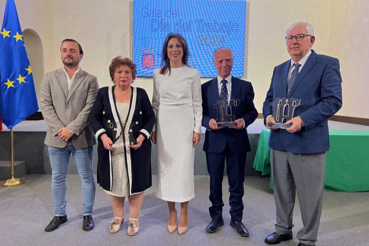
M 216 110 L 213 105 L 220 100 L 217 78 L 201 85 L 203 120 L 202 125 L 206 127 L 205 142 L 203 150 L 209 153 L 221 153 L 228 143 L 234 153 L 249 152 L 246 127 L 257 118 L 257 111 L 253 103 L 254 91 L 250 82 L 232 76 L 231 99 L 239 99 L 240 105 L 236 107 L 236 119 L 244 119 L 245 128 L 236 130 L 224 127 L 212 130 L 209 126 L 211 119 L 216 120 Z

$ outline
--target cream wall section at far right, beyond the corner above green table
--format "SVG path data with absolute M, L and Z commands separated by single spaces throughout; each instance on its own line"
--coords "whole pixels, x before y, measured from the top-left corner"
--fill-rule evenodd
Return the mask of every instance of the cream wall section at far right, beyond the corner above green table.
M 328 53 L 337 57 L 343 106 L 338 115 L 369 118 L 369 1 L 332 0 Z

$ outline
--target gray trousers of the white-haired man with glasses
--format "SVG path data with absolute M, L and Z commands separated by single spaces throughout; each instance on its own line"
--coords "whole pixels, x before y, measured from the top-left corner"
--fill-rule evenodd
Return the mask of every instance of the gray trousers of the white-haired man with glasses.
M 272 149 L 271 165 L 277 234 L 292 230 L 297 190 L 304 227 L 296 237 L 300 243 L 314 245 L 323 204 L 325 152 L 293 154 Z

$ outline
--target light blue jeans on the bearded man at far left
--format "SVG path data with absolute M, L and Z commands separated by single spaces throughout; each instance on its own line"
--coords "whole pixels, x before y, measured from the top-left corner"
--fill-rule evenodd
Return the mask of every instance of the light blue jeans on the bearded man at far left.
M 82 181 L 83 215 L 92 215 L 95 199 L 95 178 L 92 168 L 93 147 L 76 149 L 69 140 L 64 148 L 49 146 L 49 156 L 52 169 L 51 191 L 53 193 L 56 216 L 66 213 L 66 175 L 68 173 L 70 154 L 73 155 L 78 174 Z

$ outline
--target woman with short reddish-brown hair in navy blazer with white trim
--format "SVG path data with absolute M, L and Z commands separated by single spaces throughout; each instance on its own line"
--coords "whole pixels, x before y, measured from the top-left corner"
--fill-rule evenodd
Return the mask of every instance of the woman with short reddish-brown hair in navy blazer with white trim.
M 97 183 L 110 195 L 115 233 L 124 220 L 128 196 L 128 235 L 137 233 L 144 191 L 151 187 L 151 142 L 155 115 L 145 90 L 132 87 L 136 65 L 121 56 L 109 66 L 114 82 L 97 92 L 89 123 L 98 140 Z

